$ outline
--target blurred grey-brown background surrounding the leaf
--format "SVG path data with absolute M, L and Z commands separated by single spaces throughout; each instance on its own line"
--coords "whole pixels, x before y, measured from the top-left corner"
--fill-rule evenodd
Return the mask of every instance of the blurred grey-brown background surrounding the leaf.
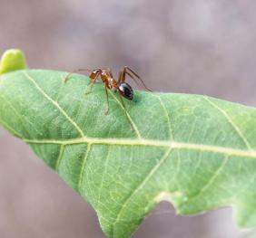
M 256 106 L 256 1 L 0 0 L 0 52 L 30 68 L 129 65 L 153 90 Z M 0 237 L 103 238 L 90 205 L 0 129 Z M 229 208 L 182 217 L 162 203 L 134 238 L 238 238 Z

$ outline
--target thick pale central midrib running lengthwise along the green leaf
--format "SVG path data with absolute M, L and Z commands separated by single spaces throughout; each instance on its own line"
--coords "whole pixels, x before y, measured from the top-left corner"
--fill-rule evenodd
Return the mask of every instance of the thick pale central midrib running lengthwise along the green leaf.
M 205 144 L 194 144 L 175 140 L 155 140 L 155 139 L 126 139 L 126 138 L 74 138 L 66 140 L 55 139 L 26 139 L 23 140 L 28 144 L 57 144 L 57 145 L 113 145 L 113 146 L 148 146 L 155 148 L 180 148 L 192 149 L 204 152 L 213 152 L 235 157 L 256 158 L 256 150 L 236 149 L 219 147 Z

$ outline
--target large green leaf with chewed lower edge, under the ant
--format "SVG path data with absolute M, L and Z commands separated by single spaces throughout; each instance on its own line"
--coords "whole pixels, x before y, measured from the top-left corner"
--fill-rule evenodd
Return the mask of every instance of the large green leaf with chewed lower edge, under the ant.
M 256 110 L 200 95 L 110 91 L 59 71 L 0 78 L 0 121 L 96 210 L 109 237 L 129 237 L 162 200 L 178 214 L 232 206 L 256 225 Z M 22 162 L 21 162 L 22 163 Z M 18 199 L 18 198 L 17 198 Z

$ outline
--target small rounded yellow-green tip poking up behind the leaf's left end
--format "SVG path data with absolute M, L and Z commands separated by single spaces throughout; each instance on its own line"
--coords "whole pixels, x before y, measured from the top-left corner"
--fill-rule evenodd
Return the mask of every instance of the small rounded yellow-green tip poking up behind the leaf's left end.
M 25 54 L 21 50 L 10 49 L 3 53 L 0 61 L 0 75 L 26 68 Z

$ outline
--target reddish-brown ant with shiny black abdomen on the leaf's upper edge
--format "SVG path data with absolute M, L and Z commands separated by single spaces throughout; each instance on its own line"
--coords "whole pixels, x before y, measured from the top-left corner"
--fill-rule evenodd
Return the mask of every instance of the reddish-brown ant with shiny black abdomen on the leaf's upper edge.
M 105 93 L 106 93 L 106 100 L 107 100 L 107 109 L 105 111 L 105 115 L 108 114 L 109 112 L 109 96 L 108 96 L 108 90 L 113 90 L 114 92 L 119 92 L 120 95 L 120 99 L 123 105 L 123 109 L 126 112 L 126 116 L 127 116 L 127 111 L 123 102 L 123 98 L 127 99 L 127 100 L 133 100 L 133 88 L 131 87 L 130 84 L 128 84 L 125 80 L 126 80 L 126 75 L 130 76 L 131 79 L 133 79 L 133 81 L 135 81 L 135 83 L 138 85 L 138 82 L 136 80 L 139 80 L 143 83 L 143 87 L 146 90 L 152 91 L 150 89 L 148 89 L 146 87 L 146 85 L 144 84 L 143 80 L 140 78 L 140 76 L 134 72 L 133 70 L 131 70 L 129 67 L 125 66 L 123 67 L 123 70 L 121 70 L 119 72 L 119 77 L 118 80 L 114 80 L 113 79 L 113 73 L 112 71 L 107 68 L 107 69 L 95 69 L 93 71 L 88 70 L 88 69 L 78 69 L 78 70 L 74 70 L 72 72 L 70 72 L 64 79 L 64 81 L 67 81 L 68 78 L 70 77 L 70 75 L 74 72 L 79 72 L 79 71 L 89 71 L 90 75 L 89 78 L 91 79 L 91 85 L 90 85 L 90 89 L 89 91 L 86 92 L 86 94 L 91 93 L 94 87 L 94 83 L 97 80 L 102 80 L 103 84 L 104 84 L 104 88 L 105 88 Z M 123 97 L 123 98 L 122 98 Z M 129 120 L 129 119 L 128 119 Z M 129 120 L 130 122 L 130 120 Z M 131 124 L 131 122 L 130 122 Z M 131 125 L 132 126 L 132 125 Z M 132 126 L 133 127 L 133 126 Z

